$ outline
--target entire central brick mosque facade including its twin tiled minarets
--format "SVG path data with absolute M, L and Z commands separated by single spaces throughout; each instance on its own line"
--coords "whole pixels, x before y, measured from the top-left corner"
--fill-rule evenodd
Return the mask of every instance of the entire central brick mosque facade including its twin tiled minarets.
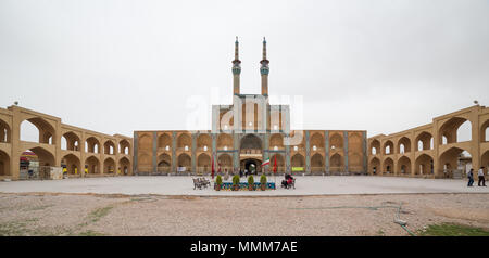
M 366 172 L 366 131 L 291 130 L 290 106 L 269 103 L 266 41 L 260 94 L 241 94 L 238 53 L 236 41 L 233 103 L 212 105 L 212 129 L 135 131 L 135 173 L 202 175 L 212 165 L 216 171 L 272 172 L 275 164 L 278 173 Z

